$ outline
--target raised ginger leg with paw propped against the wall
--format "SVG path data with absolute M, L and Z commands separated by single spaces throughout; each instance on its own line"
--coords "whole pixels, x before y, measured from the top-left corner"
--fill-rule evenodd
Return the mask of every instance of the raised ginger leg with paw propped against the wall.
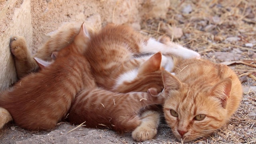
M 38 69 L 38 64 L 28 52 L 27 44 L 23 37 L 13 36 L 10 41 L 10 49 L 14 55 L 16 73 L 19 79 Z

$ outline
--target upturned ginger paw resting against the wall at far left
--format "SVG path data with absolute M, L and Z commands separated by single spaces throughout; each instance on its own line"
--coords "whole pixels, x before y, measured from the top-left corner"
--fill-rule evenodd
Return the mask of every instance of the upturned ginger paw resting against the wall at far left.
M 26 58 L 28 54 L 26 40 L 22 36 L 12 36 L 10 40 L 10 50 L 15 58 Z

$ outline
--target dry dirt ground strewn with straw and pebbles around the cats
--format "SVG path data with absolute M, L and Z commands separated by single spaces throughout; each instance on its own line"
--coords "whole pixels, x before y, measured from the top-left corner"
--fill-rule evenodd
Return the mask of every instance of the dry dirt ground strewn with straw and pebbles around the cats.
M 196 144 L 256 143 L 256 1 L 171 0 L 167 18 L 141 22 L 144 34 L 168 35 L 174 42 L 222 62 L 238 74 L 244 89 L 240 108 L 230 123 Z M 231 62 L 230 62 L 231 61 Z M 79 127 L 61 122 L 55 130 L 29 132 L 13 124 L 0 130 L 1 144 L 137 144 L 131 134 Z M 162 124 L 156 138 L 138 144 L 176 144 L 170 128 Z

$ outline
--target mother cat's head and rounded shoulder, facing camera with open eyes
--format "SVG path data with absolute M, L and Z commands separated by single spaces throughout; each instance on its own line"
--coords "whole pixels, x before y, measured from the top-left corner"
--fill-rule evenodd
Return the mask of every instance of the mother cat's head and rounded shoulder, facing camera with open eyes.
M 242 86 L 228 66 L 182 59 L 173 72 L 175 76 L 162 72 L 167 97 L 163 110 L 176 138 L 188 142 L 206 137 L 230 120 L 240 104 Z

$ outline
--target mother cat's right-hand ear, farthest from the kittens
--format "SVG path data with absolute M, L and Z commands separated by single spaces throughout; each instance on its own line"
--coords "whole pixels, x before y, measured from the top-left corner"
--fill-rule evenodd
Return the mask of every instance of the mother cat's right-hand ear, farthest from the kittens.
M 214 88 L 212 89 L 211 95 L 219 98 L 220 101 L 222 102 L 222 107 L 226 108 L 226 105 L 230 97 L 231 89 L 232 89 L 232 79 L 226 78 L 222 82 L 219 82 L 214 86 Z

